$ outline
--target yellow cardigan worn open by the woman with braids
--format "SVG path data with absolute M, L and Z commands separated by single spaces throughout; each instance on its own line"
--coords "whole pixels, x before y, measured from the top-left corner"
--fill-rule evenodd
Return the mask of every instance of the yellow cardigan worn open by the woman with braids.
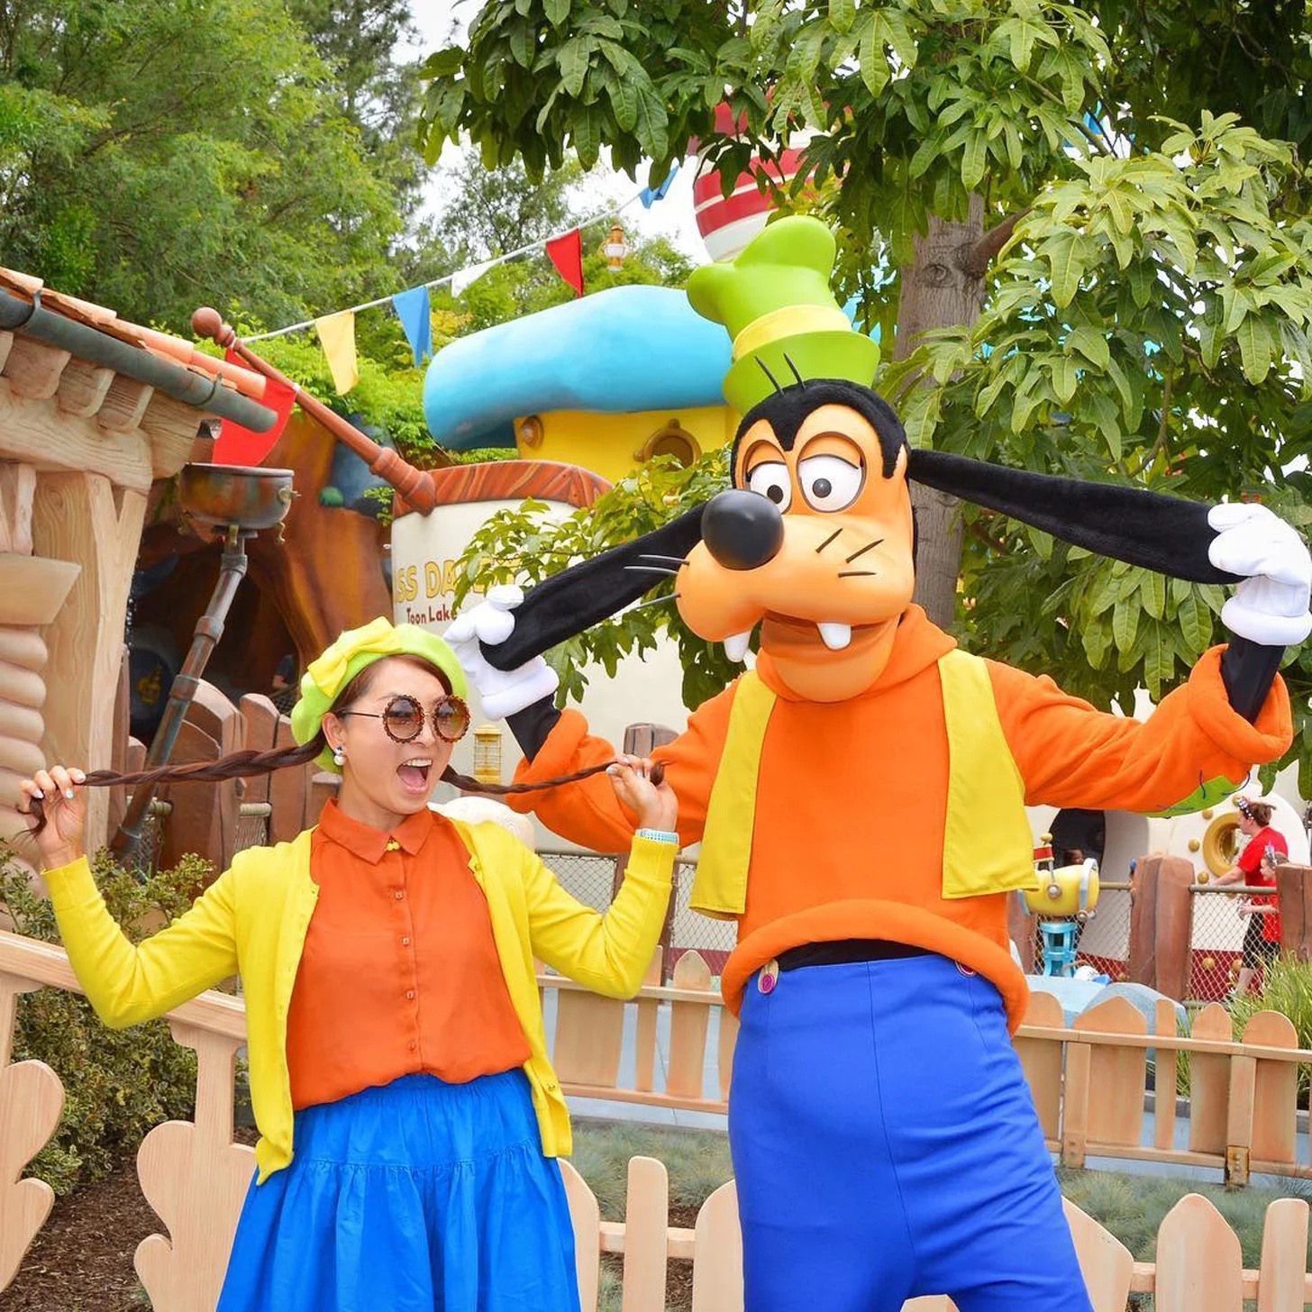
M 676 848 L 635 837 L 623 887 L 601 914 L 575 901 L 500 825 L 451 823 L 487 897 L 510 1002 L 529 1040 L 523 1071 L 543 1152 L 568 1156 L 569 1111 L 547 1057 L 534 956 L 597 993 L 632 997 L 660 938 Z M 46 874 L 68 960 L 112 1029 L 163 1015 L 240 972 L 261 1183 L 291 1161 L 287 1008 L 319 897 L 310 878 L 311 832 L 239 853 L 185 914 L 135 947 L 109 914 L 84 858 Z

